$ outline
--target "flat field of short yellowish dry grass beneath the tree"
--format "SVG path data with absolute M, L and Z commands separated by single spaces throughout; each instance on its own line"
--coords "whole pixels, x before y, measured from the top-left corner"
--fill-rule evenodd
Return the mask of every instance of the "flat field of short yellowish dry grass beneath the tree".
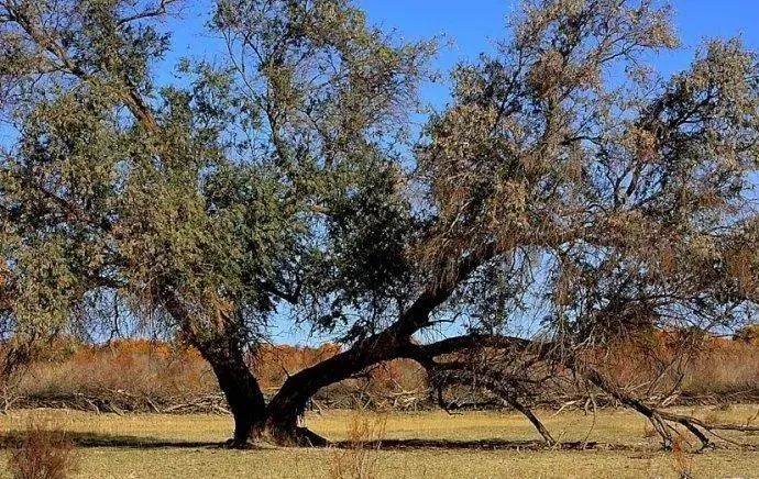
M 685 411 L 710 421 L 745 422 L 757 409 Z M 695 478 L 759 478 L 759 453 L 663 453 L 647 423 L 628 411 L 601 411 L 595 422 L 576 411 L 543 411 L 541 416 L 561 441 L 587 437 L 597 444 L 588 450 L 535 450 L 531 442 L 537 435 L 530 424 L 519 415 L 501 413 L 334 411 L 307 417 L 311 428 L 333 441 L 344 441 L 356 424 L 373 427 L 384 447 L 360 458 L 337 448 L 222 449 L 219 443 L 230 432 L 224 416 L 35 410 L 12 412 L 0 422 L 6 436 L 32 422 L 67 431 L 79 445 L 80 478 L 330 478 L 338 465 L 358 459 L 381 478 L 679 477 L 684 469 Z M 739 437 L 759 445 L 759 436 Z M 3 477 L 8 477 L 4 470 Z

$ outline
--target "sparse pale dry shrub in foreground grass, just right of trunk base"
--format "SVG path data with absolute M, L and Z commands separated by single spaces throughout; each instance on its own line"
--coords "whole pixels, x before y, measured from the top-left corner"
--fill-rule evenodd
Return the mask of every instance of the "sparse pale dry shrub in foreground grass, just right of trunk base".
M 345 447 L 334 449 L 330 459 L 330 479 L 375 479 L 380 477 L 380 448 L 387 417 L 354 415 L 348 424 Z

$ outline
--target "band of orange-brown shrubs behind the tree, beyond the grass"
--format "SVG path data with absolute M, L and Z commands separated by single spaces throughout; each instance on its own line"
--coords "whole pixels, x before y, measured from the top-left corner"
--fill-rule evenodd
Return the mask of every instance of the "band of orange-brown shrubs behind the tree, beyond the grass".
M 674 361 L 679 345 L 688 338 L 680 333 L 659 332 L 617 344 L 603 353 L 588 354 L 588 359 L 615 382 L 637 387 L 641 393 L 653 385 L 656 391 L 651 392 L 661 394 L 679 383 L 679 390 L 685 396 L 759 394 L 759 345 L 744 338 L 705 338 L 696 355 Z M 250 356 L 250 366 L 262 388 L 271 393 L 289 375 L 340 350 L 336 344 L 262 345 Z M 548 386 L 547 400 L 551 400 L 553 392 L 571 393 L 557 389 L 565 388 L 559 379 L 557 386 Z M 407 398 L 410 394 L 422 397 L 426 388 L 425 370 L 415 361 L 402 359 L 377 365 L 364 376 L 333 385 L 321 391 L 318 399 L 341 406 L 359 402 L 366 405 L 370 399 L 374 404 L 380 401 L 396 405 L 410 400 Z M 117 393 L 164 404 L 190 402 L 218 392 L 212 370 L 196 349 L 145 339 L 122 339 L 103 346 L 57 342 L 30 366 L 18 386 L 18 393 L 28 398 L 79 393 L 101 398 Z

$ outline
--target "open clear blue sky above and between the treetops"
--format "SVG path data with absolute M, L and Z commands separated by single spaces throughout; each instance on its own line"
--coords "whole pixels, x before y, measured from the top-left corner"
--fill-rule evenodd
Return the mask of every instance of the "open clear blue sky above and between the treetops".
M 188 2 L 189 4 L 190 2 Z M 206 1 L 193 2 L 185 12 L 182 29 L 175 33 L 175 55 L 219 54 L 219 44 L 204 33 L 208 13 Z M 356 0 L 373 24 L 396 30 L 406 40 L 446 35 L 452 46 L 443 48 L 436 66 L 446 71 L 462 59 L 474 59 L 492 47 L 494 40 L 507 36 L 506 15 L 518 0 Z M 672 0 L 675 29 L 684 49 L 656 59 L 660 70 L 676 71 L 688 66 L 693 48 L 710 36 L 740 34 L 748 46 L 759 49 L 759 0 Z M 176 58 L 172 56 L 169 62 Z M 444 103 L 444 86 L 428 87 L 428 100 Z

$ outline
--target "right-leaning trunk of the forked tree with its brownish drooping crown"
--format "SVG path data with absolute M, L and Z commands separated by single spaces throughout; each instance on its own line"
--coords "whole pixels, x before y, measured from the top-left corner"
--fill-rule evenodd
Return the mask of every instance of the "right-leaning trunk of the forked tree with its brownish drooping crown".
M 315 321 L 348 325 L 350 344 L 285 382 L 271 431 L 293 437 L 311 394 L 376 363 L 435 372 L 487 346 L 575 370 L 669 434 L 680 417 L 587 358 L 640 331 L 751 318 L 759 132 L 757 58 L 739 41 L 707 43 L 669 79 L 644 67 L 647 52 L 676 46 L 670 25 L 651 1 L 530 1 L 495 55 L 455 69 L 416 169 L 329 208 L 341 254 L 312 293 Z M 532 335 L 509 336 L 541 312 Z M 415 341 L 457 322 L 462 336 Z M 496 377 L 495 389 L 516 399 L 518 382 Z

